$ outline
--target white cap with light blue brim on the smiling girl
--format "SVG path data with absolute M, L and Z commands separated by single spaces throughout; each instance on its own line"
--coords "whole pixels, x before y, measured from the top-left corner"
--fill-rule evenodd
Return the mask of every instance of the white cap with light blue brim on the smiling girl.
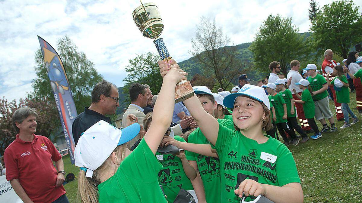
M 264 88 L 250 84 L 245 84 L 238 92 L 227 95 L 224 98 L 224 106 L 234 108 L 235 99 L 239 96 L 248 96 L 253 100 L 264 103 L 268 109 L 270 108 L 269 99 L 265 94 Z

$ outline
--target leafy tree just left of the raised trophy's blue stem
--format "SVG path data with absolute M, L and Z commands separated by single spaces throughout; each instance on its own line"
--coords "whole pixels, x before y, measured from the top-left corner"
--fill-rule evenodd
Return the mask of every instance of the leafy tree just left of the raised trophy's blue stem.
M 123 87 L 125 92 L 125 101 L 130 102 L 129 88 L 132 83 L 147 84 L 151 91 L 157 94 L 161 90 L 162 77 L 160 77 L 160 69 L 157 64 L 160 57 L 155 53 L 148 52 L 146 54 L 137 55 L 134 59 L 129 60 L 129 65 L 125 68 L 127 76 L 123 81 L 126 83 Z

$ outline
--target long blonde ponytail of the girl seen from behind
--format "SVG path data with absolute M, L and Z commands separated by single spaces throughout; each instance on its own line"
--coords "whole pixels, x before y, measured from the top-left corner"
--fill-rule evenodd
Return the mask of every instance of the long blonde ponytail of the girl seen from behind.
M 85 171 L 79 170 L 78 173 L 78 198 L 82 203 L 98 203 L 98 188 L 94 178 L 85 177 Z

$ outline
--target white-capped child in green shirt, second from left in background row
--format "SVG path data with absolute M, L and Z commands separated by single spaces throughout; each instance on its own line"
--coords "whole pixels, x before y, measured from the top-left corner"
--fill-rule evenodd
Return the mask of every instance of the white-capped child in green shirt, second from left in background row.
M 301 142 L 308 141 L 308 135 L 304 132 L 304 130 L 298 125 L 298 121 L 296 120 L 296 113 L 295 113 L 295 106 L 294 106 L 294 99 L 292 96 L 292 92 L 285 88 L 285 81 L 283 79 L 277 79 L 275 81 L 275 85 L 280 90 L 279 94 L 283 97 L 285 104 L 287 106 L 287 121 L 288 125 L 291 130 L 296 130 L 300 136 L 302 136 Z

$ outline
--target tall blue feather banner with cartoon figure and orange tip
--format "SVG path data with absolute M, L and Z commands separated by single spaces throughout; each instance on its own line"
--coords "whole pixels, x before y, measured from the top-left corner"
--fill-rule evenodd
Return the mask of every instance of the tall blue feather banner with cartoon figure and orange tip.
M 63 126 L 64 136 L 69 149 L 70 160 L 74 160 L 75 143 L 72 134 L 72 124 L 77 117 L 72 91 L 69 86 L 66 70 L 58 53 L 49 43 L 39 37 L 40 47 L 43 53 L 45 66 L 50 79 L 50 87 L 54 93 L 56 107 L 58 108 L 60 122 Z

